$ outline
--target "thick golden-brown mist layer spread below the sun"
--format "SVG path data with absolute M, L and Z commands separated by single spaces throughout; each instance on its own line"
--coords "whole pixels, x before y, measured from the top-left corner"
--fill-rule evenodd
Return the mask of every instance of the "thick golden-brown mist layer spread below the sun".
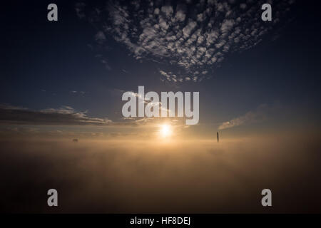
M 1 210 L 321 212 L 320 140 L 1 140 Z M 47 191 L 58 191 L 48 207 Z M 261 191 L 272 190 L 272 207 Z

